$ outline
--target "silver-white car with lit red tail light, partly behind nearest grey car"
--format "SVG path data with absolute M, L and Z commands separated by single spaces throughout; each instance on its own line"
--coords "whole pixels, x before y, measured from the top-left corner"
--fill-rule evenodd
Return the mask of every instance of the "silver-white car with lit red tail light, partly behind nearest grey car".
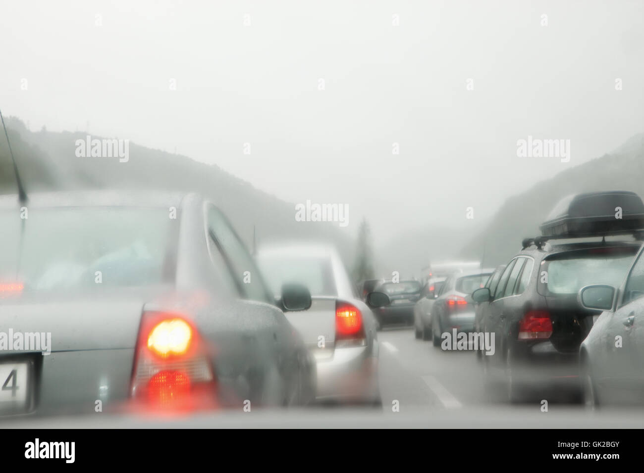
M 379 405 L 378 340 L 370 308 L 361 301 L 332 246 L 268 246 L 257 255 L 260 270 L 273 284 L 276 299 L 283 284 L 310 290 L 306 311 L 287 313 L 317 362 L 318 399 Z

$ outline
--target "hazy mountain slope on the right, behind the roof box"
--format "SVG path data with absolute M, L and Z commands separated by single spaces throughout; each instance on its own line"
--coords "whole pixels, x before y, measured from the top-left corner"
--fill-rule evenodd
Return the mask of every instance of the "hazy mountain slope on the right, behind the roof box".
M 529 176 L 526 181 L 529 184 Z M 524 237 L 540 234 L 539 225 L 560 199 L 600 190 L 632 190 L 644 198 L 644 133 L 632 136 L 610 154 L 566 169 L 508 198 L 461 254 L 485 254 L 485 266 L 506 263 L 521 249 Z

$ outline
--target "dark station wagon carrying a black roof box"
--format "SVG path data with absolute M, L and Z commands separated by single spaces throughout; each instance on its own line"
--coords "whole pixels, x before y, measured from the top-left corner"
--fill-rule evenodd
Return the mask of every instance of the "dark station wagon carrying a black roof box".
M 568 198 L 555 208 L 560 215 L 542 225 L 545 236 L 523 241 L 494 290 L 473 292 L 475 302 L 488 304 L 480 329 L 495 338 L 493 354 L 482 357 L 484 369 L 488 377 L 502 375 L 509 400 L 553 387 L 578 392 L 579 347 L 592 327 L 592 316 L 599 313 L 583 308 L 578 292 L 587 284 L 619 286 L 629 269 L 641 242 L 632 236 L 607 240 L 610 235 L 636 234 L 630 219 L 611 227 L 610 219 L 615 219 L 607 212 L 621 202 L 627 209 L 642 210 L 641 200 L 632 194 L 639 200 L 634 203 L 630 194 L 583 194 L 583 206 Z M 599 215 L 591 217 L 591 212 Z M 598 225 L 590 225 L 591 220 Z M 554 225 L 558 234 L 552 231 Z M 554 238 L 568 241 L 551 245 L 548 240 Z

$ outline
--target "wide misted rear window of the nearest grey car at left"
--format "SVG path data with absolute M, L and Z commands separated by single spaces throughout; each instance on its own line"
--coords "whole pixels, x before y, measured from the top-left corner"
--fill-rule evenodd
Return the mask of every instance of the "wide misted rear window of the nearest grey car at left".
M 27 216 L 0 212 L 0 281 L 18 283 L 24 292 L 143 286 L 173 278 L 176 219 L 166 209 L 30 209 Z

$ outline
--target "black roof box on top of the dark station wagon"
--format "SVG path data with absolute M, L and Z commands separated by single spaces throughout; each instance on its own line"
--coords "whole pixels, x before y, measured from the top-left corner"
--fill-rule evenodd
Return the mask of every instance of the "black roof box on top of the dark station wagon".
M 574 194 L 560 200 L 539 228 L 551 238 L 632 234 L 644 228 L 644 203 L 625 190 Z

